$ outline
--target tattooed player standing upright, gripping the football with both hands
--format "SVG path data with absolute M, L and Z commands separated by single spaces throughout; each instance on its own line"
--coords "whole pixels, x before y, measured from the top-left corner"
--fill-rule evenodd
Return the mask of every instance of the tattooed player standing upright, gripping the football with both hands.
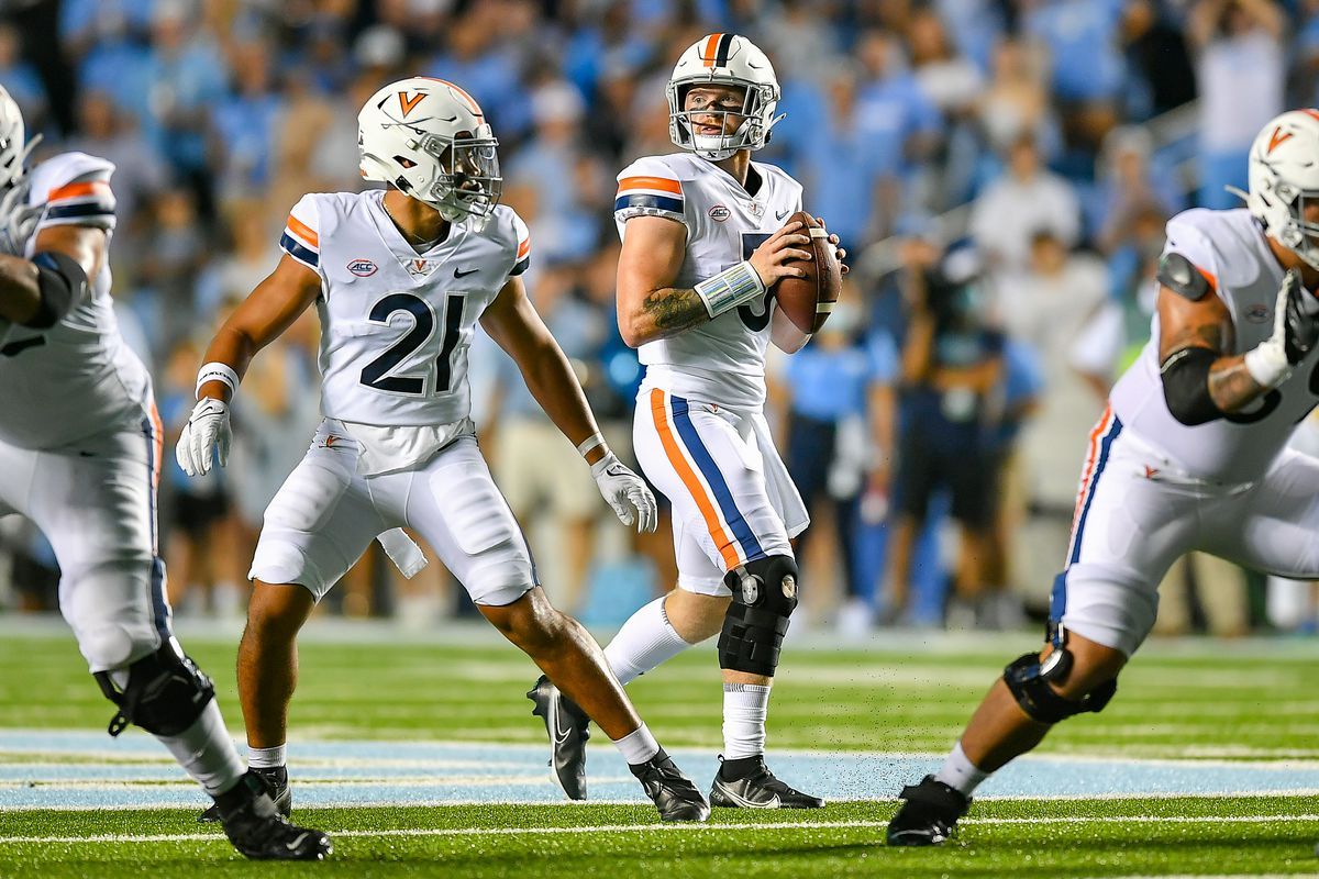
M 619 328 L 646 365 L 637 460 L 673 503 L 678 588 L 633 614 L 605 658 L 628 684 L 719 635 L 724 749 L 711 804 L 820 808 L 764 759 L 769 691 L 798 600 L 789 540 L 807 525 L 761 414 L 766 347 L 791 353 L 809 339 L 773 297 L 781 278 L 806 275 L 789 262 L 810 258 L 810 237 L 785 224 L 802 187 L 751 158 L 782 116 L 774 69 L 749 40 L 702 38 L 666 91 L 682 152 L 624 169 L 615 219 Z M 559 784 L 584 799 L 586 714 L 543 679 L 528 696 L 550 727 Z

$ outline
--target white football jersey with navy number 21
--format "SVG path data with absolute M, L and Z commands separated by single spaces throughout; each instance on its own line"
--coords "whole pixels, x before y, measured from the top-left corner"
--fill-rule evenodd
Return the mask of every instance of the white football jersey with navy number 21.
M 417 253 L 384 191 L 305 195 L 280 246 L 321 275 L 321 411 L 380 427 L 454 424 L 471 410 L 467 349 L 485 307 L 530 262 L 526 225 L 499 206 Z

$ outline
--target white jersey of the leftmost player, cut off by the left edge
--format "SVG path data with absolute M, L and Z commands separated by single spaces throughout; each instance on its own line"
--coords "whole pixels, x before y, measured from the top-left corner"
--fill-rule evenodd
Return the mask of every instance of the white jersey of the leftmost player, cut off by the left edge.
M 62 153 L 32 170 L 28 203 L 46 212 L 26 241 L 36 252 L 51 225 L 115 228 L 115 166 L 86 153 Z M 90 278 L 90 295 L 50 329 L 7 326 L 0 339 L 0 441 L 55 448 L 140 415 L 150 377 L 119 335 L 109 298 L 109 261 Z

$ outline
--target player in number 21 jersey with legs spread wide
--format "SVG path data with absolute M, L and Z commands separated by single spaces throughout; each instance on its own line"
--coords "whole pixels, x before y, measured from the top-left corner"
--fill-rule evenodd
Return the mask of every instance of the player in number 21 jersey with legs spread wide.
M 398 530 L 410 526 L 485 618 L 615 741 L 661 817 L 703 821 L 704 799 L 637 717 L 600 647 L 550 606 L 476 445 L 467 351 L 480 322 L 578 447 L 619 518 L 656 527 L 654 497 L 604 444 L 567 358 L 526 297 L 530 240 L 522 220 L 499 204 L 491 127 L 466 91 L 429 78 L 385 86 L 357 124 L 361 175 L 389 188 L 306 195 L 293 207 L 280 264 L 211 341 L 178 441 L 189 474 L 207 472 L 212 457 L 224 465 L 230 401 L 243 373 L 315 304 L 324 422 L 266 507 L 239 647 L 249 760 L 288 812 L 297 633 L 372 539 L 381 536 L 405 572 L 423 564 Z

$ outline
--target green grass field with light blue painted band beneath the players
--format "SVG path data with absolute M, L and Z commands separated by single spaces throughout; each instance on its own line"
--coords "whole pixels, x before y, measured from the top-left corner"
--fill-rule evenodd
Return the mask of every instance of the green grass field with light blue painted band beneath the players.
M 187 626 L 181 638 L 216 677 L 241 741 L 235 639 Z M 716 810 L 694 828 L 656 826 L 607 742 L 592 751 L 592 789 L 605 801 L 557 803 L 522 696 L 534 671 L 493 631 L 400 642 L 317 621 L 290 762 L 295 817 L 331 832 L 336 851 L 272 866 L 195 824 L 200 795 L 146 737 L 96 737 L 112 710 L 67 633 L 11 626 L 0 639 L 0 876 L 1319 874 L 1319 646 L 1302 640 L 1151 644 L 1103 714 L 1064 723 L 1031 770 L 987 785 L 954 845 L 884 847 L 898 787 L 936 763 L 997 671 L 1033 642 L 798 646 L 774 691 L 772 764 L 801 787 L 835 785 L 835 801 L 813 813 Z M 708 784 L 706 755 L 720 745 L 712 651 L 678 658 L 632 695 Z M 59 745 L 73 734 L 90 737 L 86 750 Z M 451 750 L 425 750 L 439 743 Z M 479 755 L 504 776 L 487 778 Z M 853 763 L 852 775 L 803 775 Z M 1057 792 L 1066 796 L 1049 799 Z

